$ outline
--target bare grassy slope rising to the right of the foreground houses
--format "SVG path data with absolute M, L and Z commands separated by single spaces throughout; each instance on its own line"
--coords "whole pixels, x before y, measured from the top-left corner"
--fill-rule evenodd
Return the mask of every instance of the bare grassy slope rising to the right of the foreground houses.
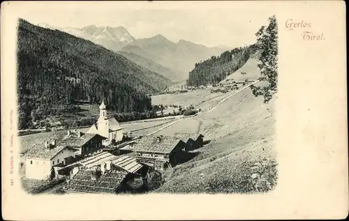
M 200 132 L 211 143 L 193 160 L 166 171 L 157 192 L 251 192 L 250 168 L 265 158 L 270 168 L 264 176 L 274 187 L 274 100 L 263 104 L 246 89 L 192 121 L 201 122 Z

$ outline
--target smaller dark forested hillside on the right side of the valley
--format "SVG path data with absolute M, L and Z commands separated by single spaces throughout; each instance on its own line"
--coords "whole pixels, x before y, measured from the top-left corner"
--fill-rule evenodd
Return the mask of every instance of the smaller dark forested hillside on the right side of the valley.
M 189 72 L 188 86 L 217 84 L 228 75 L 235 72 L 255 53 L 255 45 L 237 47 L 223 52 L 221 56 L 211 56 L 211 59 L 195 63 L 195 68 Z

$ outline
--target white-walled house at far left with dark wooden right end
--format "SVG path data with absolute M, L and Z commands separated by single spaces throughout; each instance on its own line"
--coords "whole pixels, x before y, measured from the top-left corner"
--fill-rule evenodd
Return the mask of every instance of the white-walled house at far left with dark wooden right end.
M 45 142 L 35 144 L 25 153 L 27 178 L 46 179 L 54 176 L 54 167 L 62 167 L 72 158 L 84 157 L 102 148 L 103 137 L 82 132 L 57 131 Z

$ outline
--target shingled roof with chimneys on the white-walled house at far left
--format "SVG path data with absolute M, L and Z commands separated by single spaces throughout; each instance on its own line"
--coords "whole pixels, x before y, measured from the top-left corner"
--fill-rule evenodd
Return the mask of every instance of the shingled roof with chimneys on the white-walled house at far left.
M 56 144 L 52 148 L 46 148 L 45 142 L 35 144 L 29 151 L 24 155 L 26 158 L 38 158 L 38 159 L 52 159 L 64 148 L 79 148 L 89 142 L 92 138 L 99 136 L 94 134 L 83 134 L 81 137 L 77 137 L 77 133 L 72 132 L 68 135 L 66 131 L 54 132 L 46 141 L 50 142 L 54 140 Z

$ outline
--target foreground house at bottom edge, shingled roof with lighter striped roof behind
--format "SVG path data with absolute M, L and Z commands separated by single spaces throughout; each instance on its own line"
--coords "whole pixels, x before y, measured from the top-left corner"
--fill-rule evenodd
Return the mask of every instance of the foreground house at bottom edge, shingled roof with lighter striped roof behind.
M 68 165 L 70 178 L 64 186 L 68 193 L 117 193 L 142 188 L 144 167 L 128 155 L 103 152 Z

